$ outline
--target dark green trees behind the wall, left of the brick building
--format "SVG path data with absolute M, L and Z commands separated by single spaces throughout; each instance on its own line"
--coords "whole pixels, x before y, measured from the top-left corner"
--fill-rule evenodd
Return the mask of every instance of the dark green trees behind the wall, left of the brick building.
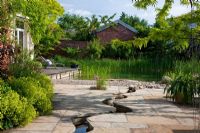
M 65 37 L 72 40 L 91 41 L 94 38 L 93 32 L 101 25 L 107 25 L 112 22 L 115 14 L 112 16 L 92 15 L 90 18 L 75 14 L 66 13 L 58 19 L 58 24 L 65 30 Z

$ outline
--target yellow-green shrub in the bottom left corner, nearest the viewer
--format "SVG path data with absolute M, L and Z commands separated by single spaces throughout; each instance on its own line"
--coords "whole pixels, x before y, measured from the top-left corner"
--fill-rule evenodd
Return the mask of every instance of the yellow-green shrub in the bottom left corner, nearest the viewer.
M 37 115 L 27 99 L 7 85 L 0 85 L 0 105 L 0 130 L 25 125 Z

